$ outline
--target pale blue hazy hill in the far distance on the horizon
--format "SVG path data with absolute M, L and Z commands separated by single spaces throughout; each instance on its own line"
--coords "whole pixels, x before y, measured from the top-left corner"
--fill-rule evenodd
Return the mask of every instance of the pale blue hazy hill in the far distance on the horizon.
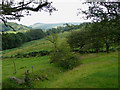
M 57 26 L 63 26 L 66 23 L 52 23 L 52 24 L 45 24 L 45 23 L 35 23 L 34 25 L 30 25 L 33 29 L 51 29 L 51 28 L 56 28 Z M 67 24 L 74 24 L 78 25 L 81 24 L 80 22 L 70 22 Z

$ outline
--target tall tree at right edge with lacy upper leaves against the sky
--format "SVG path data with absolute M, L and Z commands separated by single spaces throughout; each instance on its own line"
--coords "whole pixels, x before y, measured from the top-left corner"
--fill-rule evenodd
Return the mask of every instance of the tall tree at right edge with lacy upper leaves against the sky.
M 120 37 L 120 27 L 118 25 L 120 23 L 120 2 L 85 2 L 85 4 L 88 4 L 88 10 L 81 11 L 86 15 L 87 19 L 90 18 L 93 22 L 100 22 L 99 27 L 94 27 L 94 29 L 100 30 L 99 33 L 103 33 L 99 35 L 104 37 L 106 51 L 109 52 L 110 44 L 118 41 L 117 38 Z M 113 34 L 112 31 L 118 32 L 118 34 Z

